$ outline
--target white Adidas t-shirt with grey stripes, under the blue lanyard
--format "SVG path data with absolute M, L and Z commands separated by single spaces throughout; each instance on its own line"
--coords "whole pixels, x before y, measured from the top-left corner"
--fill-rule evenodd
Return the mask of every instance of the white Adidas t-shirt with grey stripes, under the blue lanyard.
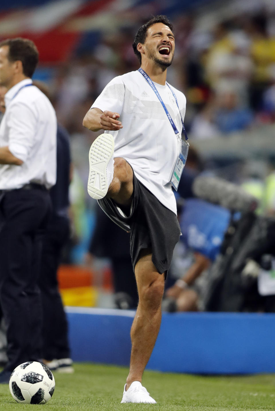
M 182 119 L 186 98 L 172 87 L 180 111 L 168 85 L 155 83 L 161 99 L 178 131 L 182 132 Z M 138 72 L 130 72 L 111 80 L 91 108 L 120 114 L 123 128 L 106 131 L 114 136 L 115 157 L 123 157 L 134 170 L 136 178 L 169 210 L 177 214 L 175 196 L 170 177 L 179 154 L 177 136 L 161 102 L 149 83 Z

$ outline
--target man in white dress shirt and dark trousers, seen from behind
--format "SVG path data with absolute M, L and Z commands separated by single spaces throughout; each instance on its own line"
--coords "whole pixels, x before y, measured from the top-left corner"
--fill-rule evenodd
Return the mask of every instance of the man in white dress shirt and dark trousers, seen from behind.
M 0 304 L 13 369 L 41 358 L 41 299 L 37 286 L 41 232 L 56 181 L 55 110 L 34 85 L 38 51 L 27 39 L 0 42 L 0 85 L 7 88 L 0 124 Z

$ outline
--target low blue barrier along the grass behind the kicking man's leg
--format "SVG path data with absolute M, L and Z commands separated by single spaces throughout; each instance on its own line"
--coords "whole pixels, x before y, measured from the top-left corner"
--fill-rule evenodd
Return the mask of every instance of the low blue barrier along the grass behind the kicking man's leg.
M 129 365 L 133 311 L 66 307 L 74 361 Z M 147 369 L 275 372 L 275 314 L 164 313 Z

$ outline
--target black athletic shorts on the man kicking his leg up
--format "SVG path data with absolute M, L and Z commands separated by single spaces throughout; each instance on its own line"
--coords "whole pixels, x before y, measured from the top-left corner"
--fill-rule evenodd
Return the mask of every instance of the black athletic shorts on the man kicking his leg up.
M 180 224 L 175 213 L 166 208 L 133 172 L 133 200 L 126 216 L 119 205 L 104 197 L 98 204 L 108 217 L 130 231 L 130 253 L 135 267 L 142 249 L 152 249 L 152 262 L 157 271 L 167 274 L 173 250 L 180 239 Z

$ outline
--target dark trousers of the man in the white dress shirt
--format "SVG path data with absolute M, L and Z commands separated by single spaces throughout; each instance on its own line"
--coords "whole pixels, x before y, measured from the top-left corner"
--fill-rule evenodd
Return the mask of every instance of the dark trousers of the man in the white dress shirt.
M 18 189 L 0 197 L 0 304 L 7 326 L 5 370 L 12 371 L 41 358 L 38 275 L 50 196 L 43 189 Z

